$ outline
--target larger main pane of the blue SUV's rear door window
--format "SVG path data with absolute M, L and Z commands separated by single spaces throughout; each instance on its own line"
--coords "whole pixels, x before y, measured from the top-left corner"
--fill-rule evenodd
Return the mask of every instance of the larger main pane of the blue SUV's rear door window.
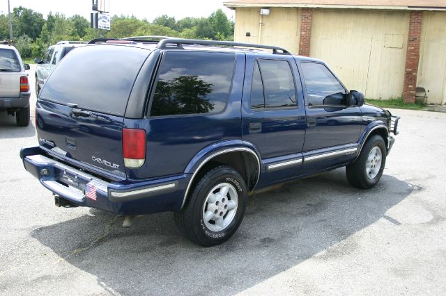
M 295 86 L 291 67 L 285 60 L 259 60 L 266 108 L 294 107 Z

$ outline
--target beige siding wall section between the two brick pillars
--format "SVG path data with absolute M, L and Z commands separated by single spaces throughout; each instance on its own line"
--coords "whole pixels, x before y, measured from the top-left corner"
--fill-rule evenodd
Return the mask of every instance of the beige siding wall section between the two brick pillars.
M 401 97 L 409 13 L 314 10 L 310 56 L 369 99 Z

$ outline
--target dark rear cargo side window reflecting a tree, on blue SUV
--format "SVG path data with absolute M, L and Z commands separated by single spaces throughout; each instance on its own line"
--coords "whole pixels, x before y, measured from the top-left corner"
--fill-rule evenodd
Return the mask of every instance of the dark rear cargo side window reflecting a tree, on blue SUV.
M 234 65 L 234 54 L 167 52 L 151 116 L 221 112 L 229 97 Z

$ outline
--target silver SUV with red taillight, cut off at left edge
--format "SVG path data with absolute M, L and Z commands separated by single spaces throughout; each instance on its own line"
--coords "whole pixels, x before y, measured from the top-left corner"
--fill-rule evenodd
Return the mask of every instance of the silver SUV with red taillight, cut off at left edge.
M 19 126 L 29 124 L 29 65 L 22 62 L 19 51 L 0 45 L 0 111 L 15 116 Z

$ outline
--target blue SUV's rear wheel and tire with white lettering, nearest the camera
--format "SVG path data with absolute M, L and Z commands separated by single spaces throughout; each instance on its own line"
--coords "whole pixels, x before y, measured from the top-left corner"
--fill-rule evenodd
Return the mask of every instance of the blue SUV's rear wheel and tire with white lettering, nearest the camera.
M 226 192 L 226 195 L 224 195 Z M 194 187 L 183 208 L 174 213 L 180 233 L 203 247 L 229 240 L 243 220 L 247 186 L 232 167 L 207 172 Z

